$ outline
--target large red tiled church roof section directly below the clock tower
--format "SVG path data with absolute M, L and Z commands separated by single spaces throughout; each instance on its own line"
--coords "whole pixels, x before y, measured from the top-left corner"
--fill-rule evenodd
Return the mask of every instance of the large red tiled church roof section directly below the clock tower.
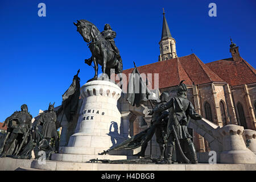
M 179 85 L 181 80 L 185 84 L 205 84 L 208 82 L 225 82 L 210 70 L 195 54 L 177 57 L 166 61 L 137 67 L 140 73 L 159 73 L 159 89 Z M 134 68 L 126 69 L 123 73 L 129 77 Z M 154 75 L 152 76 L 154 88 Z

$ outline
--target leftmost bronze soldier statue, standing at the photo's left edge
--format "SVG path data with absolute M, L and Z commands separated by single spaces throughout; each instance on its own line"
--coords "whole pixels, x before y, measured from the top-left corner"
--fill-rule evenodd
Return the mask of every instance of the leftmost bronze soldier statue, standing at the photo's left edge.
M 10 126 L 10 137 L 6 140 L 5 146 L 3 147 L 1 158 L 6 157 L 6 154 L 9 151 L 10 146 L 11 144 L 13 144 L 15 139 L 18 139 L 20 141 L 23 140 L 23 136 L 30 131 L 32 115 L 28 114 L 28 107 L 26 104 L 23 104 L 20 107 L 20 109 L 21 111 L 15 111 L 10 117 L 6 119 L 4 123 L 4 125 L 7 124 L 7 126 Z M 20 146 L 19 149 L 21 147 L 22 146 Z

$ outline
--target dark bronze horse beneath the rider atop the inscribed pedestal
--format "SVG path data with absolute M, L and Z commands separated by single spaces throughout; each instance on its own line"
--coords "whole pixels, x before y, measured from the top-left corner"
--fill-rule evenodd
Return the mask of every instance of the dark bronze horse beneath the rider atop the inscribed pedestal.
M 115 73 L 122 73 L 123 65 L 117 60 L 116 53 L 113 50 L 110 43 L 105 40 L 101 35 L 98 28 L 91 22 L 87 20 L 77 20 L 74 23 L 77 27 L 77 31 L 81 34 L 84 41 L 89 43 L 90 52 L 92 52 L 92 57 L 85 60 L 85 63 L 94 63 L 94 78 L 98 77 L 98 64 L 102 67 L 102 73 L 106 73 L 110 78 L 110 69 L 115 69 Z

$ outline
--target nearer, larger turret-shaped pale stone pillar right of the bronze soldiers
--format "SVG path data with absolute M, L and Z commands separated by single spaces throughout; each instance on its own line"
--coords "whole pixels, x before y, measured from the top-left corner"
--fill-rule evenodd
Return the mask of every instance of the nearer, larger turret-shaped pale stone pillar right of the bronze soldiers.
M 226 125 L 220 130 L 222 135 L 223 151 L 220 154 L 220 163 L 228 164 L 255 164 L 255 155 L 245 146 L 242 134 L 244 129 L 238 125 Z

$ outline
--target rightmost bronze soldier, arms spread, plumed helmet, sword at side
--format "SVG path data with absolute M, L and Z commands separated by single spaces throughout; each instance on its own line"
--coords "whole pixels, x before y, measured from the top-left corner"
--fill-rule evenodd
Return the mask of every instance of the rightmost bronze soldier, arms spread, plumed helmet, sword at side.
M 166 104 L 160 104 L 154 109 L 154 113 L 164 111 L 166 109 L 169 109 L 170 111 L 167 123 L 166 158 L 162 163 L 172 163 L 171 158 L 174 151 L 176 137 L 178 139 L 176 142 L 180 142 L 184 144 L 184 146 L 187 146 L 190 162 L 193 164 L 198 163 L 195 145 L 191 140 L 192 136 L 188 133 L 187 125 L 190 118 L 199 120 L 202 117 L 196 113 L 192 103 L 187 99 L 187 86 L 182 83 L 183 81 L 181 81 L 178 86 L 177 97 L 172 97 L 169 102 Z

